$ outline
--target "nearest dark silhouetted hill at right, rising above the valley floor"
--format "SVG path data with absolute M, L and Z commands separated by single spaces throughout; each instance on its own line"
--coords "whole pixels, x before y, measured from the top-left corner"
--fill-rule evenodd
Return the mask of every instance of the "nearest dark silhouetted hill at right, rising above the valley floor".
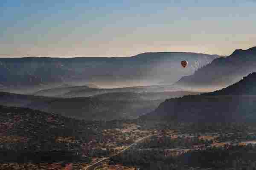
M 256 121 L 256 73 L 220 91 L 166 99 L 142 119 L 184 122 Z

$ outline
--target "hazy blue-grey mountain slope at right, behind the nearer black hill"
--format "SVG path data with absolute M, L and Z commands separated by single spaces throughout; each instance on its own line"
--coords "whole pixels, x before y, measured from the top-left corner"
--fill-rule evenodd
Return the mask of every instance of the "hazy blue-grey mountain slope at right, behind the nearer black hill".
M 223 88 L 254 71 L 256 71 L 256 47 L 239 49 L 226 58 L 214 59 L 194 74 L 182 77 L 175 85 L 189 88 Z

